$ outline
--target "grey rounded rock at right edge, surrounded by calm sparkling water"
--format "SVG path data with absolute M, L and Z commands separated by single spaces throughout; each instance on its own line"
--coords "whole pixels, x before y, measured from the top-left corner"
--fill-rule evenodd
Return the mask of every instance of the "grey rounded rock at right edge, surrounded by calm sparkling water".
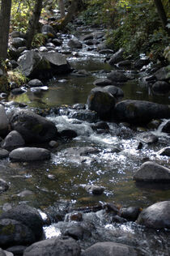
M 133 177 L 134 181 L 170 181 L 170 169 L 147 161 L 141 165 Z

